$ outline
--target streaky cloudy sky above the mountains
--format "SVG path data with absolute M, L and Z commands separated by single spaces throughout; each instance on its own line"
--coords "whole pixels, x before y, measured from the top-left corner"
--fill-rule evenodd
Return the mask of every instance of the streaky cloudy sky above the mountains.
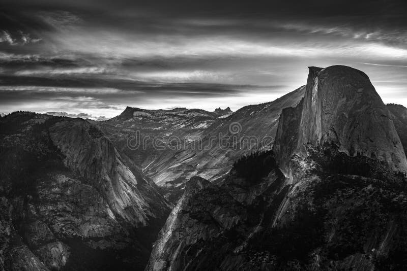
M 235 111 L 335 64 L 407 106 L 405 14 L 398 0 L 2 0 L 0 112 Z

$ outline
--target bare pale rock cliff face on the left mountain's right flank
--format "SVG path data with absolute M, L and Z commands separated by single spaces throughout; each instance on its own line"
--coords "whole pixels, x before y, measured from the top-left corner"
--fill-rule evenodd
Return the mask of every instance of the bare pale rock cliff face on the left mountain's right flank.
M 137 189 L 136 177 L 103 133 L 90 123 L 68 119 L 50 127 L 49 135 L 65 155 L 64 164 L 104 191 L 113 213 L 134 226 L 147 225 L 150 206 Z

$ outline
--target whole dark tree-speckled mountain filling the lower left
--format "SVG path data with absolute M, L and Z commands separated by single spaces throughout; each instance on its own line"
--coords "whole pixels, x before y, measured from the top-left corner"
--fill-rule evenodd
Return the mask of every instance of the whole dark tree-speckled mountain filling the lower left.
M 145 266 L 171 206 L 101 130 L 30 112 L 0 127 L 1 269 Z

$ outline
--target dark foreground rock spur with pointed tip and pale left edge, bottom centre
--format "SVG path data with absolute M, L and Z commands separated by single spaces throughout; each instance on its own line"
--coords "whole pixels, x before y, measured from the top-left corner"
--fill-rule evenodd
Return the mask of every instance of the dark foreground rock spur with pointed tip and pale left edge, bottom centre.
M 256 223 L 264 219 L 250 209 L 278 186 L 277 176 L 272 171 L 256 185 L 231 178 L 222 186 L 192 178 L 161 230 L 146 270 L 236 270 L 242 261 L 232 256 L 234 251 L 245 248 Z

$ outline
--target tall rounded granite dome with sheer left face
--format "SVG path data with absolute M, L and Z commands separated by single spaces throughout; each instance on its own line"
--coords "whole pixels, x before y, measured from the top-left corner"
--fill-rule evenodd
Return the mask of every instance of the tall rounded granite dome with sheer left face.
M 281 121 L 279 125 L 277 143 L 294 136 L 297 146 L 293 152 L 305 143 L 335 144 L 349 156 L 367 156 L 386 162 L 390 170 L 407 172 L 393 120 L 365 73 L 342 65 L 309 67 L 304 101 L 299 106 L 295 116 L 281 115 L 285 124 Z M 279 151 L 280 158 L 286 155 Z

